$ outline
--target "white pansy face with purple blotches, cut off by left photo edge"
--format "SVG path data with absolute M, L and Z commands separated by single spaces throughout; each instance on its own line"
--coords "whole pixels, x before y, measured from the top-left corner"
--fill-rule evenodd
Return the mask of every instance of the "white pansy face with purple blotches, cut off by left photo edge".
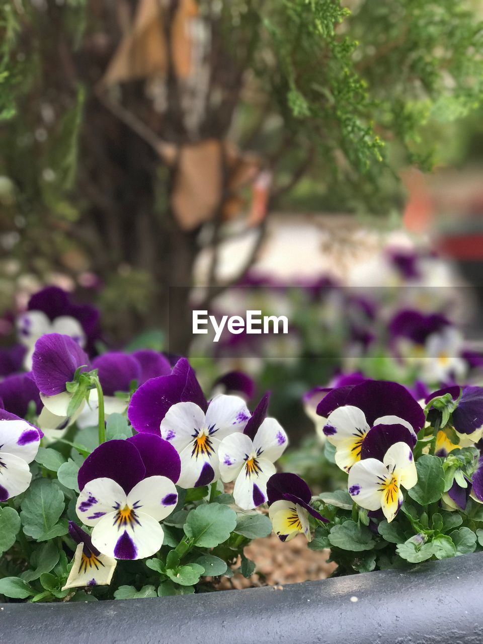
M 0 501 L 16 497 L 30 485 L 28 464 L 35 459 L 40 440 L 37 428 L 0 410 Z

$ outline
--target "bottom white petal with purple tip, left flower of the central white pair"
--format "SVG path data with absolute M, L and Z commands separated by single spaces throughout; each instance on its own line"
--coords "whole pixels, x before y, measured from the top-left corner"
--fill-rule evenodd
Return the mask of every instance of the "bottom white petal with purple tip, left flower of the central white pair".
M 202 437 L 202 440 L 205 440 L 205 448 L 200 451 L 196 450 L 196 440 L 194 439 L 180 453 L 181 473 L 177 482 L 180 488 L 198 488 L 208 485 L 220 476 L 216 453 L 220 441 Z

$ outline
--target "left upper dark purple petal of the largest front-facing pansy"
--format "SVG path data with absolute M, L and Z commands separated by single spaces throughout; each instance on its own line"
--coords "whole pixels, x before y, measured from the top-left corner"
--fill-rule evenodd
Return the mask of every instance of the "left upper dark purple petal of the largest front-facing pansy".
M 77 482 L 82 491 L 94 478 L 112 478 L 129 494 L 146 475 L 137 448 L 128 440 L 108 440 L 84 460 Z

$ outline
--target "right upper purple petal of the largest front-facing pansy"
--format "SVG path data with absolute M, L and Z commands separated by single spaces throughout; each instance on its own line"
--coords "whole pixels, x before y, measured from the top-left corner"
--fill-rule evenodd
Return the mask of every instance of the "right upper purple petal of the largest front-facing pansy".
M 142 433 L 128 439 L 139 451 L 146 477 L 167 477 L 173 483 L 180 478 L 181 460 L 178 452 L 167 440 L 155 434 Z

